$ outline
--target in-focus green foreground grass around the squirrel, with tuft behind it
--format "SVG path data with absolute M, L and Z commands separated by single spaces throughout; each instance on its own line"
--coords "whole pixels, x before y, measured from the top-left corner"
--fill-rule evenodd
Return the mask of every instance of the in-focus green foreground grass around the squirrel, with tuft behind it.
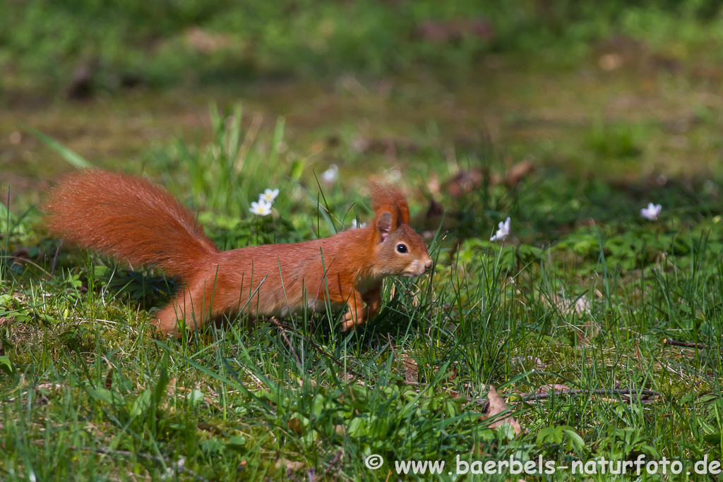
M 173 141 L 149 164 L 201 210 L 219 246 L 327 236 L 368 219 L 359 178 L 317 184 L 312 165 L 281 149 L 283 119 L 241 150 L 249 129 L 240 114 L 212 110 L 208 145 Z M 590 132 L 592 155 L 627 155 L 636 142 L 615 126 Z M 444 165 L 444 152 L 427 155 Z M 505 171 L 494 151 L 466 165 Z M 247 203 L 267 186 L 281 194 L 260 220 Z M 1 478 L 396 480 L 395 460 L 445 460 L 454 470 L 458 455 L 570 465 L 643 454 L 693 472 L 704 455 L 721 458 L 723 225 L 714 190 L 669 183 L 641 194 L 549 168 L 513 188 L 439 196 L 444 218 L 412 206 L 414 224 L 432 232 L 434 271 L 389 280 L 379 316 L 360 330 L 341 334 L 341 314 L 330 313 L 283 327 L 234 319 L 180 341 L 149 329 L 174 280 L 59 246 L 37 210 L 0 205 Z M 639 215 L 648 200 L 664 205 L 655 222 Z M 513 236 L 489 243 L 508 215 Z M 16 258 L 24 246 L 26 261 Z M 660 395 L 521 401 L 544 384 Z M 525 433 L 481 419 L 489 385 Z M 384 457 L 379 470 L 364 466 L 371 454 Z M 451 480 L 447 468 L 437 478 Z

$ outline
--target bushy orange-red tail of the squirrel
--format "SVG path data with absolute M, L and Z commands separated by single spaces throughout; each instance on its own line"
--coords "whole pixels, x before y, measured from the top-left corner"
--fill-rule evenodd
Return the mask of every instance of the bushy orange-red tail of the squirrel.
M 191 212 L 143 178 L 82 171 L 62 178 L 46 202 L 54 235 L 133 265 L 188 280 L 218 253 Z

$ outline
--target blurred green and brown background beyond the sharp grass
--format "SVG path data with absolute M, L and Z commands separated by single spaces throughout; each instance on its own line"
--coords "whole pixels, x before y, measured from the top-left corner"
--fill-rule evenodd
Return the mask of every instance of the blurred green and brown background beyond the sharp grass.
M 575 177 L 709 178 L 722 47 L 711 0 L 9 0 L 0 182 L 38 191 L 67 169 L 27 126 L 153 171 L 170 139 L 208 139 L 211 101 L 242 102 L 260 139 L 286 116 L 317 171 L 443 181 L 494 146 Z

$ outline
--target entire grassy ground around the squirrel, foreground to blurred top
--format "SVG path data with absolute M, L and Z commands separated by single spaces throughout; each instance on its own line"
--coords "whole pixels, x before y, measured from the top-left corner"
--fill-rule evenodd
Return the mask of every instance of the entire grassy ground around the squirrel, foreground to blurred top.
M 0 4 L 0 82 L 22 94 L 0 98 L 1 480 L 391 481 L 412 459 L 444 460 L 436 479 L 452 480 L 458 456 L 641 454 L 685 474 L 723 457 L 714 2 L 50 3 Z M 495 38 L 416 35 L 464 15 Z M 194 27 L 221 48 L 197 51 Z M 93 100 L 35 98 L 79 64 L 97 69 Z M 125 74 L 186 87 L 116 92 Z M 209 99 L 231 108 L 209 116 Z M 43 230 L 49 181 L 87 160 L 163 184 L 223 249 L 368 220 L 369 173 L 399 171 L 435 270 L 388 280 L 351 335 L 330 313 L 161 340 L 149 323 L 175 280 Z M 521 160 L 536 171 L 519 184 L 450 193 L 461 171 L 504 178 Z M 254 218 L 266 187 L 281 191 L 273 215 Z M 444 215 L 425 215 L 431 197 Z M 651 201 L 654 222 L 639 214 Z M 508 216 L 511 238 L 490 243 Z M 544 384 L 660 395 L 521 400 Z M 490 385 L 525 433 L 481 418 Z M 610 478 L 458 480 L 521 477 Z

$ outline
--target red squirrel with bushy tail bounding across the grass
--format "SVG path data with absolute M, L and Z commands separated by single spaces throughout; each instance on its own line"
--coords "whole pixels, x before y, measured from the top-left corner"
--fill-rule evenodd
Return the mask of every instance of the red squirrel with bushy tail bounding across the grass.
M 372 185 L 375 218 L 364 228 L 295 244 L 219 251 L 194 215 L 144 178 L 87 170 L 59 181 L 46 202 L 49 231 L 132 265 L 160 267 L 183 288 L 155 326 L 181 335 L 221 314 L 252 317 L 348 306 L 343 330 L 373 317 L 382 280 L 416 277 L 432 267 L 422 237 L 409 227 L 409 207 L 392 186 Z M 322 256 L 323 255 L 323 256 Z M 322 259 L 323 257 L 323 259 Z

